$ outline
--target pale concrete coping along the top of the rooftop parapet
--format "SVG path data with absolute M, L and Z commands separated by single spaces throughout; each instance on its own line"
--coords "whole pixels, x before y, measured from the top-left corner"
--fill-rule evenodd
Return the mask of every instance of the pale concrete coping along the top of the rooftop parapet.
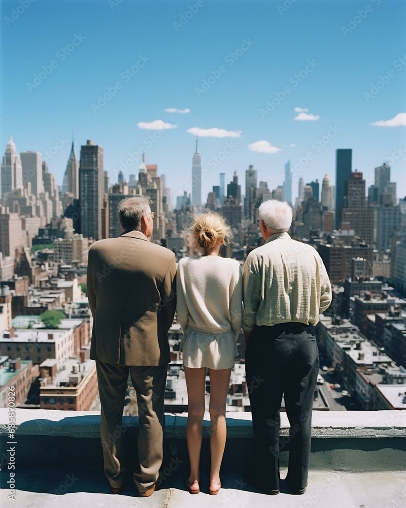
M 75 439 L 100 439 L 99 411 L 57 411 L 16 409 L 16 435 L 59 436 Z M 7 408 L 0 409 L 0 436 L 6 436 Z M 250 412 L 230 412 L 227 418 L 227 438 L 251 439 Z M 186 438 L 186 413 L 166 413 L 165 439 Z M 128 429 L 138 427 L 138 417 L 124 416 Z M 204 416 L 204 437 L 209 437 L 210 416 Z M 289 435 L 289 421 L 281 413 L 281 436 Z M 313 411 L 312 437 L 315 438 L 404 438 L 406 411 Z

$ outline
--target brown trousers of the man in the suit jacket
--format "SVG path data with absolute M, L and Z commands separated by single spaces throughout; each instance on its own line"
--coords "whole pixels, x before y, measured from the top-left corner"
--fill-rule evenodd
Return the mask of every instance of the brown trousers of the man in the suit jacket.
M 167 365 L 130 367 L 96 362 L 101 402 L 101 444 L 104 472 L 110 485 L 119 488 L 126 473 L 125 427 L 122 425 L 128 374 L 137 394 L 139 429 L 137 434 L 140 472 L 134 482 L 140 492 L 157 480 L 163 458 L 164 400 Z

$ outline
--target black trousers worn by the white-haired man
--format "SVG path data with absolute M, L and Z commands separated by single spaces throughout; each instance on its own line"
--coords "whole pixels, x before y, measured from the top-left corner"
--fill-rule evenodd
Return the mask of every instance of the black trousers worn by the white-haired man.
M 289 449 L 292 488 L 307 485 L 313 394 L 319 351 L 312 325 L 255 326 L 246 350 L 246 375 L 255 459 L 263 485 L 279 489 L 279 452 Z M 290 423 L 289 440 L 279 440 L 282 394 Z

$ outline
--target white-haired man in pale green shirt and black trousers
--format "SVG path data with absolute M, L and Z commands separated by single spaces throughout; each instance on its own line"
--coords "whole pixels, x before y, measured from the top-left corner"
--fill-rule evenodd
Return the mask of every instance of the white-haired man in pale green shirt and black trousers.
M 287 480 L 292 493 L 306 490 L 319 370 L 314 326 L 331 303 L 323 261 L 313 247 L 290 238 L 291 222 L 286 202 L 261 204 L 265 244 L 250 252 L 243 273 L 242 326 L 256 457 L 248 480 L 271 495 L 279 493 L 282 395 L 290 423 Z

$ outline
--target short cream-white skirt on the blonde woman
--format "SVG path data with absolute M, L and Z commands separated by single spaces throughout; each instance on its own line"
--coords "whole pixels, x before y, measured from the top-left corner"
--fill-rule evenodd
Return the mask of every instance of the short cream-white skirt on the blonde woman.
M 237 356 L 237 344 L 232 330 L 213 335 L 186 328 L 180 344 L 183 365 L 191 369 L 230 369 Z

